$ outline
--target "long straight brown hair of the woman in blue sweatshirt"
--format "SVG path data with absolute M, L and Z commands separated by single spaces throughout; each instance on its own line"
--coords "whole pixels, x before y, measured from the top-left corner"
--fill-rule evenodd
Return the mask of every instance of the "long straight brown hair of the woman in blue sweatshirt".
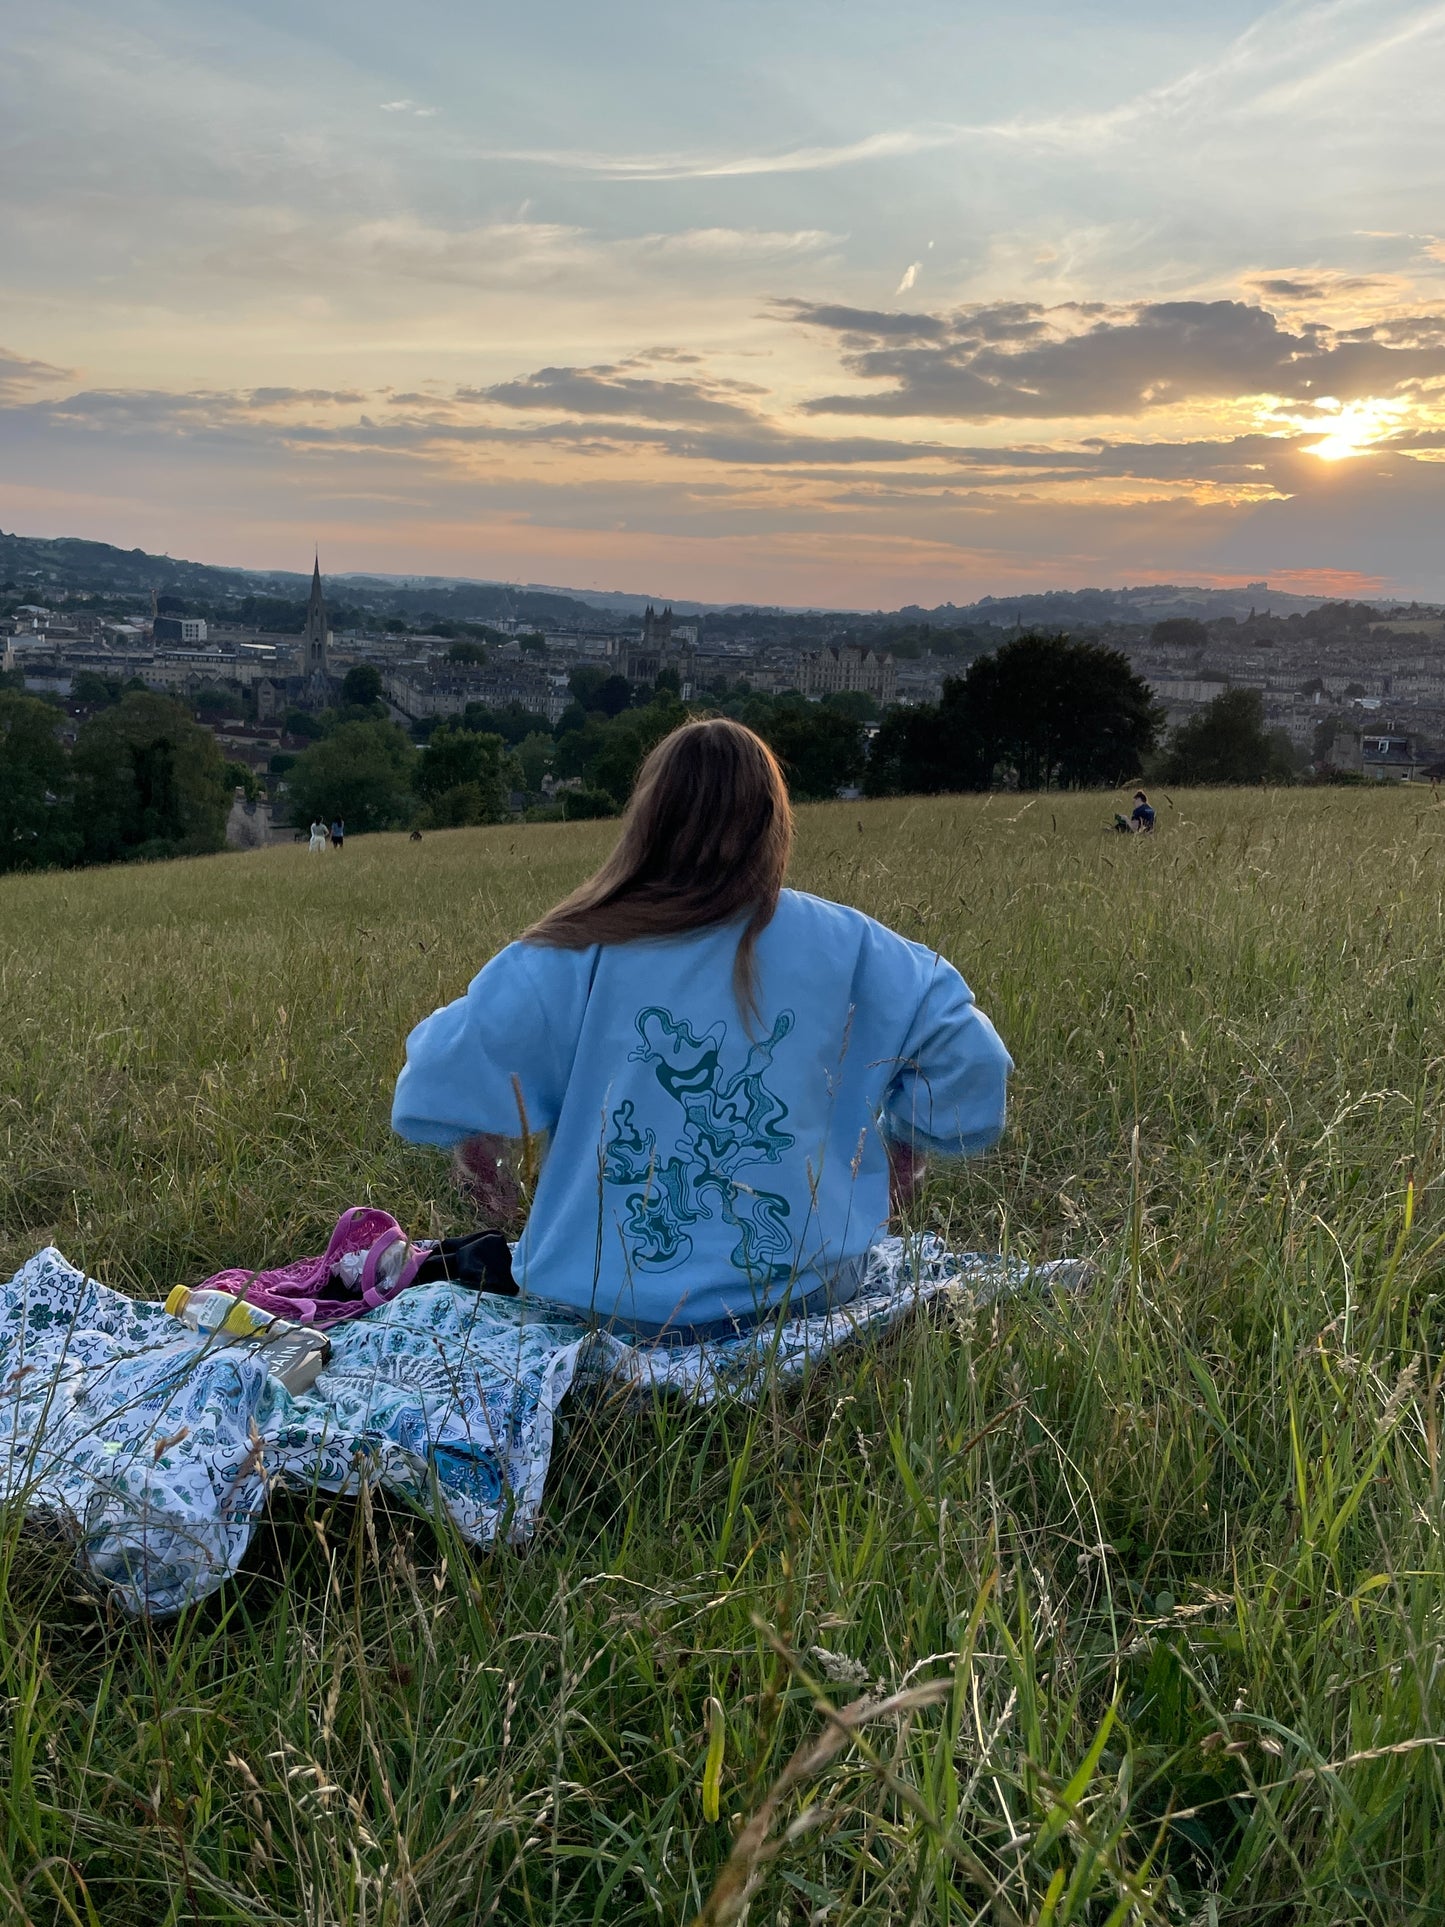
M 617 848 L 595 877 L 522 933 L 526 944 L 586 950 L 674 937 L 751 911 L 732 987 L 757 1012 L 757 938 L 778 908 L 792 805 L 778 761 L 742 723 L 684 723 L 638 773 Z

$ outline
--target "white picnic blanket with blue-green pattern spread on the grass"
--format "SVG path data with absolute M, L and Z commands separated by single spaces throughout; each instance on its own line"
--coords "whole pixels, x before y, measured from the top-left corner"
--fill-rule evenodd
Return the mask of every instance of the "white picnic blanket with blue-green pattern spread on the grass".
M 1069 1287 L 1083 1270 L 890 1237 L 844 1308 L 707 1345 L 628 1341 L 538 1301 L 416 1285 L 333 1328 L 328 1370 L 291 1397 L 254 1351 L 197 1337 L 48 1247 L 0 1285 L 0 1501 L 73 1536 L 81 1572 L 127 1609 L 177 1613 L 239 1571 L 272 1486 L 345 1493 L 370 1480 L 439 1503 L 474 1544 L 524 1538 L 574 1387 L 755 1397 L 769 1372 L 794 1378 L 940 1293 Z

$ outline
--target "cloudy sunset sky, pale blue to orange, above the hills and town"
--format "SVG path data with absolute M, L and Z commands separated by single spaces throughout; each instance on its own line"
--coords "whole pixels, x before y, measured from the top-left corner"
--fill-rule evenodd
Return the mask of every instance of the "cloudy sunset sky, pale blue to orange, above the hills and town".
M 0 27 L 6 530 L 709 601 L 1445 597 L 1445 4 Z

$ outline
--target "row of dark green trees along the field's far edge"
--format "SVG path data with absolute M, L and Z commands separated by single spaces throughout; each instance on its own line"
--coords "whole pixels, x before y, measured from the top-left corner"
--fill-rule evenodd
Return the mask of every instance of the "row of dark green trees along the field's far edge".
M 100 682 L 100 678 L 96 678 Z M 220 850 L 237 786 L 216 738 L 179 703 L 143 688 L 89 692 L 108 707 L 73 746 L 64 713 L 0 690 L 0 869 L 44 869 Z M 1256 690 L 1222 690 L 1160 744 L 1162 711 L 1127 657 L 1065 636 L 1021 636 L 967 665 L 936 703 L 890 709 L 871 698 L 763 696 L 719 686 L 684 703 L 672 673 L 636 688 L 578 669 L 555 726 L 511 703 L 470 703 L 416 736 L 391 721 L 370 665 L 347 673 L 339 707 L 291 711 L 312 740 L 272 759 L 293 825 L 337 817 L 355 832 L 618 813 L 647 752 L 692 715 L 730 715 L 778 755 L 800 802 L 854 786 L 869 796 L 992 788 L 1112 788 L 1289 782 L 1295 757 L 1264 726 Z

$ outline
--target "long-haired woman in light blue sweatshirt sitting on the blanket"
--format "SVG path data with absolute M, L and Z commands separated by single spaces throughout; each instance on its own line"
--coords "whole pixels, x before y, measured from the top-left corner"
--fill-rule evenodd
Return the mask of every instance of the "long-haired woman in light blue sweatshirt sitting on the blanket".
M 407 1039 L 401 1137 L 472 1168 L 547 1137 L 528 1295 L 680 1341 L 846 1303 L 890 1164 L 1000 1137 L 1012 1062 L 959 973 L 786 890 L 790 848 L 767 744 L 686 723 L 595 877 Z

